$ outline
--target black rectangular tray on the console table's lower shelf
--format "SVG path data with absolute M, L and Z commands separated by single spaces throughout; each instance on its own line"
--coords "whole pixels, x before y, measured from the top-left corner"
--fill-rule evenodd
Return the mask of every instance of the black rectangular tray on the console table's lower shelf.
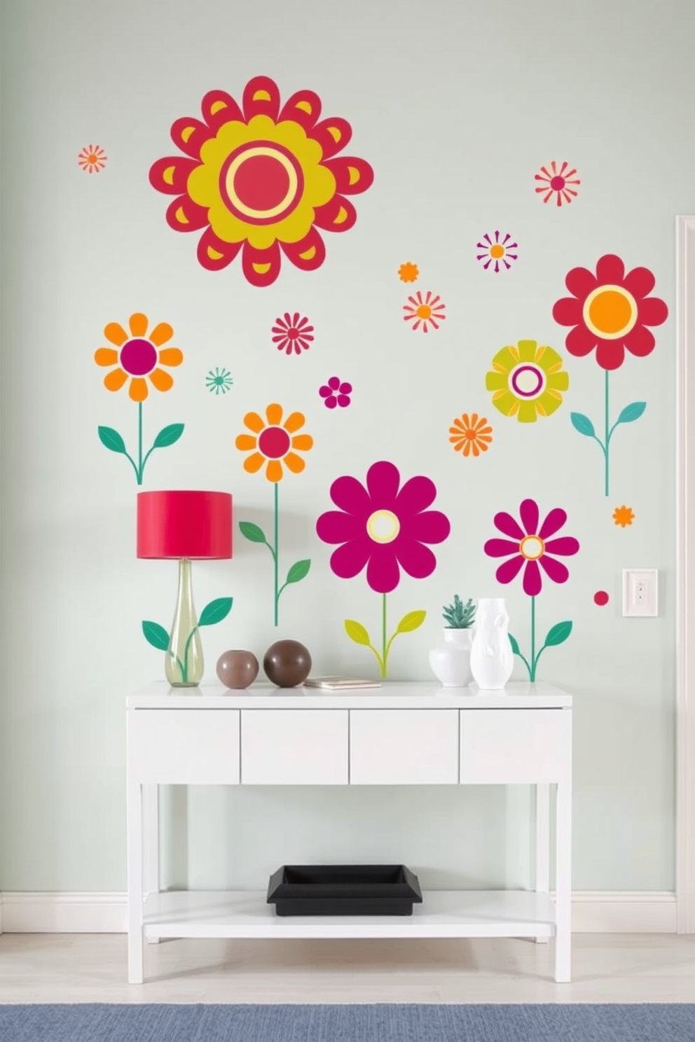
M 405 865 L 282 865 L 270 877 L 276 915 L 413 915 L 422 903 Z

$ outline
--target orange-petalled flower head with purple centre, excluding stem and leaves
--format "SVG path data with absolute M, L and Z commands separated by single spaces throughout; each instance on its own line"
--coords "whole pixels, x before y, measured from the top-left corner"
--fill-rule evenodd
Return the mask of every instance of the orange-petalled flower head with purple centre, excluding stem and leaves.
M 148 325 L 147 315 L 141 312 L 128 320 L 129 336 L 120 322 L 109 322 L 104 328 L 104 337 L 114 347 L 100 347 L 94 354 L 98 366 L 115 367 L 104 376 L 106 390 L 120 391 L 130 378 L 128 394 L 133 401 L 145 401 L 149 393 L 148 379 L 157 391 L 170 391 L 174 378 L 160 367 L 180 366 L 183 361 L 183 352 L 178 347 L 163 347 L 174 336 L 169 323 L 159 322 L 149 334 Z

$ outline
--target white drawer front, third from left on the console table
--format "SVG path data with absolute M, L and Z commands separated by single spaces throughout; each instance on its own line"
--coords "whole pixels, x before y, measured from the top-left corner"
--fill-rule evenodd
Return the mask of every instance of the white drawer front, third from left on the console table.
M 351 785 L 455 785 L 456 710 L 350 710 Z

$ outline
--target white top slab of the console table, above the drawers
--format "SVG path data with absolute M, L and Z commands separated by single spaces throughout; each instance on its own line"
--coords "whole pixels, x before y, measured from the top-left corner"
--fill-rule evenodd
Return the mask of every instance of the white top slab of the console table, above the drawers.
M 221 684 L 170 688 L 154 681 L 126 698 L 128 709 L 568 709 L 572 696 L 550 684 L 513 680 L 503 691 L 442 688 L 427 680 L 384 680 L 380 688 L 325 691 L 317 688 L 276 688 L 253 684 L 230 691 Z

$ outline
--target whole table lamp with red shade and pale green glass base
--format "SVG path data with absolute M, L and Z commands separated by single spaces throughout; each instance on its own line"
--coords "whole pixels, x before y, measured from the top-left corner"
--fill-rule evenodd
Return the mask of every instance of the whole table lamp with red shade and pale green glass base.
M 178 490 L 139 492 L 138 556 L 178 561 L 178 596 L 166 649 L 165 673 L 173 688 L 195 688 L 204 671 L 200 626 L 220 622 L 231 607 L 231 598 L 212 601 L 198 620 L 193 603 L 191 562 L 231 556 L 231 495 Z M 165 630 L 158 628 L 164 649 Z

